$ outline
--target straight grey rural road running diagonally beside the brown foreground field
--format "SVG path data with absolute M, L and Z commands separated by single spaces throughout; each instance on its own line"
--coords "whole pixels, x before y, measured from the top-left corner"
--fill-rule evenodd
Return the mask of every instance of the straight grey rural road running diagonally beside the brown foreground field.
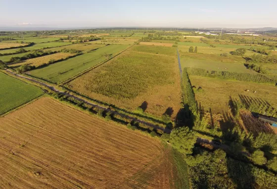
M 125 114 L 123 114 L 123 113 L 119 113 L 119 112 L 117 112 L 117 111 L 109 110 L 109 109 L 107 109 L 107 108 L 105 108 L 105 107 L 99 106 L 99 105 L 97 105 L 97 104 L 93 104 L 92 102 L 87 101 L 87 100 L 82 99 L 82 98 L 79 98 L 79 97 L 77 97 L 77 96 L 75 96 L 75 95 L 68 94 L 68 93 L 65 93 L 65 92 L 63 92 L 63 91 L 60 91 L 60 90 L 54 88 L 53 86 L 47 85 L 46 83 L 43 83 L 43 82 L 37 81 L 37 80 L 35 80 L 35 79 L 32 79 L 32 78 L 29 78 L 29 77 L 26 77 L 26 76 L 17 74 L 17 73 L 15 73 L 15 72 L 13 72 L 13 71 L 11 71 L 11 70 L 8 70 L 8 69 L 6 69 L 6 71 L 9 72 L 9 73 L 11 73 L 11 74 L 13 74 L 13 75 L 16 76 L 16 77 L 24 78 L 24 79 L 27 79 L 27 80 L 29 80 L 29 81 L 35 82 L 35 83 L 37 83 L 37 84 L 43 85 L 43 86 L 45 86 L 46 88 L 48 88 L 48 89 L 50 89 L 51 91 L 54 91 L 54 92 L 56 92 L 56 93 L 63 94 L 63 95 L 66 95 L 66 96 L 70 96 L 70 97 L 72 97 L 72 98 L 74 98 L 74 99 L 76 99 L 76 100 L 82 101 L 82 102 L 84 102 L 84 103 L 86 103 L 86 104 L 88 104 L 88 105 L 91 105 L 92 107 L 97 107 L 97 108 L 102 109 L 102 110 L 110 111 L 110 112 L 112 112 L 114 115 L 120 115 L 121 117 L 124 117 L 124 118 L 127 118 L 127 119 L 133 119 L 134 121 L 137 121 L 137 122 L 139 122 L 139 123 L 145 124 L 145 125 L 150 126 L 150 127 L 153 127 L 154 129 L 160 129 L 160 130 L 164 131 L 164 133 L 168 133 L 168 134 L 171 133 L 171 130 L 168 129 L 168 128 L 162 128 L 162 127 L 159 127 L 159 126 L 154 125 L 154 124 L 152 124 L 152 123 L 148 123 L 148 122 L 139 120 L 139 119 L 136 118 L 136 117 L 131 117 L 131 116 L 125 115 Z

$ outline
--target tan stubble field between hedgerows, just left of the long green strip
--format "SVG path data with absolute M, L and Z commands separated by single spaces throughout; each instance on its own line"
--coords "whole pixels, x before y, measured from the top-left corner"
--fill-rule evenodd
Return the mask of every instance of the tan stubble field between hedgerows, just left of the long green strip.
M 74 54 L 72 53 L 58 52 L 58 53 L 49 54 L 46 56 L 31 58 L 20 63 L 11 64 L 10 67 L 19 67 L 25 64 L 38 67 L 43 64 L 48 64 L 49 60 L 60 60 L 62 58 L 65 59 L 66 57 L 73 56 L 73 55 Z

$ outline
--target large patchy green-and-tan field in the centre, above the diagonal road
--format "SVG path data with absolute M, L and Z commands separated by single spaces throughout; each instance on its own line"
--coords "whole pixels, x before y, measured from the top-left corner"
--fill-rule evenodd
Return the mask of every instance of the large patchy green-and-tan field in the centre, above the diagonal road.
M 174 47 L 136 45 L 73 80 L 67 87 L 118 107 L 174 117 L 180 109 L 180 74 Z

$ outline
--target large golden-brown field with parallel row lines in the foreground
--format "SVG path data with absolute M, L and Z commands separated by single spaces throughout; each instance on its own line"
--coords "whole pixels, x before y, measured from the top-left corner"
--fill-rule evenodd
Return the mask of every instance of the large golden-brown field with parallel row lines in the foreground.
M 169 189 L 170 147 L 44 97 L 0 118 L 0 188 Z

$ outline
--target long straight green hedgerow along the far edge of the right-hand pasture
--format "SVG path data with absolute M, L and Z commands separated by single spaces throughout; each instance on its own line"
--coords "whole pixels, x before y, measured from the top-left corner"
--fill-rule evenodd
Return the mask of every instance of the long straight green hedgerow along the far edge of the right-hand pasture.
M 228 71 L 208 71 L 202 68 L 186 68 L 188 75 L 230 79 L 237 81 L 251 81 L 255 83 L 277 83 L 276 79 L 269 78 L 262 74 L 236 73 Z

